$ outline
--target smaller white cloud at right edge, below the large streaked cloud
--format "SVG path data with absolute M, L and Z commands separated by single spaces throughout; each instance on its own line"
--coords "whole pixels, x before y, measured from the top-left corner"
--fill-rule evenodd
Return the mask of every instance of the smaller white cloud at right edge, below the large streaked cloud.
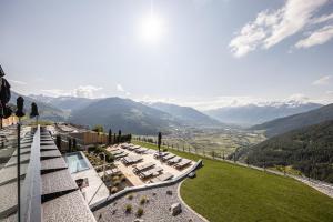
M 326 26 L 322 29 L 315 30 L 307 38 L 300 40 L 296 48 L 309 48 L 316 44 L 323 44 L 333 38 L 333 26 Z

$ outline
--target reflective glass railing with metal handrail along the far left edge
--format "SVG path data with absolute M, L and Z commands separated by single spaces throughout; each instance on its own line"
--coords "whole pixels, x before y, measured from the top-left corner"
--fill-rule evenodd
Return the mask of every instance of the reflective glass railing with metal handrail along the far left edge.
M 40 175 L 40 169 L 36 170 L 31 164 L 36 159 L 31 159 L 36 150 L 31 149 L 34 130 L 21 127 L 18 137 L 18 125 L 10 125 L 0 130 L 0 221 L 27 221 L 27 216 L 32 212 L 27 203 L 30 204 L 34 199 L 31 193 L 34 175 Z M 19 138 L 20 152 L 18 152 Z M 40 161 L 38 163 L 40 164 Z

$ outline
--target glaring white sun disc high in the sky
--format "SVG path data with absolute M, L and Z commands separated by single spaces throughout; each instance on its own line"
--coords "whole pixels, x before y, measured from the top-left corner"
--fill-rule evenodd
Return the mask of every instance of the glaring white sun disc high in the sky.
M 164 32 L 165 28 L 163 20 L 154 14 L 143 18 L 140 23 L 140 36 L 147 42 L 158 42 L 163 37 Z

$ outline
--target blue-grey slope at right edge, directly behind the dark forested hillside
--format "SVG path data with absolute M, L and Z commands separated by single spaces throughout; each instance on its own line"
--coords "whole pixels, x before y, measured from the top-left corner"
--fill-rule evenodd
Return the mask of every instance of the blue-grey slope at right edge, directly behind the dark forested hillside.
M 251 130 L 265 130 L 268 137 L 273 137 L 294 129 L 329 120 L 333 120 L 333 104 L 254 125 L 251 128 Z

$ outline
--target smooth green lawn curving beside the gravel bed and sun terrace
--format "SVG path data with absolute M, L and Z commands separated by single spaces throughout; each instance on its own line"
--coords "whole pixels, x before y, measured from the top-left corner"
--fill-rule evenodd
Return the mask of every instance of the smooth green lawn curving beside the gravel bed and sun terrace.
M 153 144 L 134 143 L 157 149 Z M 226 162 L 203 162 L 196 179 L 184 181 L 181 195 L 210 221 L 333 221 L 333 199 L 301 182 Z

